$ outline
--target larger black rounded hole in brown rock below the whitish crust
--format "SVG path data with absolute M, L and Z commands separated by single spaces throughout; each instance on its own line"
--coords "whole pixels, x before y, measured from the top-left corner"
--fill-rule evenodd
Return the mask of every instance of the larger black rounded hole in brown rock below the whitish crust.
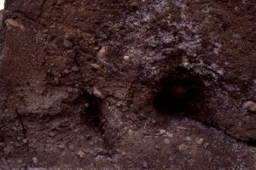
M 154 97 L 154 108 L 164 115 L 196 115 L 203 104 L 203 83 L 194 76 L 165 77 Z

